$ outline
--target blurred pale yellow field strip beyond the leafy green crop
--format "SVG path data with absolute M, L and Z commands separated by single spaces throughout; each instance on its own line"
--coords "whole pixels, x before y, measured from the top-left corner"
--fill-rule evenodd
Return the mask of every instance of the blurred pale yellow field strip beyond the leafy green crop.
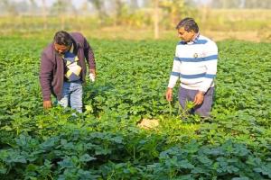
M 201 9 L 193 12 L 200 24 L 201 32 L 214 40 L 237 39 L 250 41 L 271 40 L 271 10 L 265 9 Z M 183 14 L 185 16 L 185 14 Z M 181 18 L 181 17 L 180 17 Z M 137 20 L 140 21 L 140 20 Z M 142 26 L 131 25 L 113 26 L 108 20 L 103 26 L 98 24 L 96 17 L 63 16 L 42 17 L 32 16 L 3 16 L 0 18 L 0 34 L 19 36 L 50 36 L 55 31 L 83 31 L 89 38 L 95 39 L 154 39 L 153 24 L 141 23 Z M 173 40 L 176 38 L 175 24 L 160 27 L 160 39 Z

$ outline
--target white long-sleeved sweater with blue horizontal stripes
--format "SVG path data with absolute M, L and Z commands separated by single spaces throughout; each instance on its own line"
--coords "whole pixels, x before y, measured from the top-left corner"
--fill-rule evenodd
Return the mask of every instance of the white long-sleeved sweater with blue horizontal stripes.
M 168 87 L 173 88 L 180 78 L 183 88 L 207 92 L 214 86 L 217 63 L 218 47 L 214 41 L 200 34 L 190 42 L 181 41 L 176 47 Z

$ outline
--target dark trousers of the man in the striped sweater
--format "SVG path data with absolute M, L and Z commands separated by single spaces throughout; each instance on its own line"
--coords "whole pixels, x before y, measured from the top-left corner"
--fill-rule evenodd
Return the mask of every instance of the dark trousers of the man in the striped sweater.
M 179 103 L 182 106 L 182 109 L 186 107 L 186 101 L 194 101 L 195 95 L 198 93 L 198 90 L 184 89 L 180 86 L 179 89 Z M 214 87 L 210 87 L 208 91 L 204 94 L 204 100 L 201 105 L 197 105 L 192 109 L 192 113 L 197 113 L 201 117 L 209 117 L 210 109 L 213 99 Z

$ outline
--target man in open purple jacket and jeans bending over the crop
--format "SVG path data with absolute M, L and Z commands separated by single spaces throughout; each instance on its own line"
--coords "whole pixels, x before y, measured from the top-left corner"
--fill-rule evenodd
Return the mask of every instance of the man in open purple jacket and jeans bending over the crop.
M 89 42 L 79 32 L 57 31 L 51 44 L 42 52 L 40 83 L 44 109 L 51 108 L 51 94 L 63 107 L 82 112 L 82 83 L 87 66 L 89 78 L 96 76 L 95 58 Z

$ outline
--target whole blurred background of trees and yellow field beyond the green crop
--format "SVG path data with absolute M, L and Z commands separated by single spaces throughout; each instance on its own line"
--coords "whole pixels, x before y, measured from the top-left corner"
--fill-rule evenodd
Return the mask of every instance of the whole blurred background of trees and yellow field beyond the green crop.
M 94 38 L 168 39 L 191 16 L 215 40 L 269 41 L 270 14 L 269 0 L 3 0 L 0 34 L 67 30 Z

